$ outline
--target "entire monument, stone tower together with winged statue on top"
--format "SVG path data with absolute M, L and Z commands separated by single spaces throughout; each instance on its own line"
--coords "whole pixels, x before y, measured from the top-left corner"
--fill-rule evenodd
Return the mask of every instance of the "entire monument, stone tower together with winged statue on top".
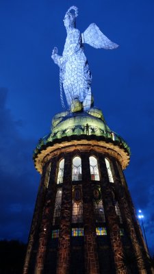
M 53 117 L 34 151 L 41 180 L 23 274 L 153 273 L 123 175 L 129 147 L 94 108 L 84 55 L 84 43 L 118 45 L 94 23 L 80 34 L 77 14 L 75 6 L 66 12 L 64 51 L 51 55 L 68 110 Z

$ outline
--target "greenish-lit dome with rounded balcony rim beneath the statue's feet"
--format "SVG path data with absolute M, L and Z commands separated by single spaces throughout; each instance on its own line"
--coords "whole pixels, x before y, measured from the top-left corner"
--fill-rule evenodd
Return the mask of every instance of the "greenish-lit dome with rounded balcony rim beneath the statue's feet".
M 39 140 L 34 151 L 36 169 L 41 172 L 40 162 L 55 144 L 60 146 L 62 142 L 68 143 L 73 140 L 97 140 L 106 143 L 107 147 L 114 145 L 118 153 L 123 151 L 122 158 L 125 158 L 123 168 L 129 163 L 130 149 L 125 140 L 111 131 L 105 123 L 101 110 L 91 108 L 88 112 L 60 112 L 53 117 L 51 132 Z

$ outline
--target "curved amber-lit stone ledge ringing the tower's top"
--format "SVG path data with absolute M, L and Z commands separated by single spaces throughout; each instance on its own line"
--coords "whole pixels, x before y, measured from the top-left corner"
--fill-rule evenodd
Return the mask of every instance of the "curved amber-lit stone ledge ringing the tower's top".
M 64 136 L 61 139 L 47 142 L 46 145 L 42 145 L 40 149 L 35 150 L 34 164 L 36 170 L 42 173 L 42 167 L 51 157 L 62 152 L 68 153 L 74 149 L 94 149 L 112 155 L 120 162 L 123 169 L 127 167 L 130 160 L 130 153 L 122 142 L 114 141 L 110 138 L 106 139 L 104 136 Z

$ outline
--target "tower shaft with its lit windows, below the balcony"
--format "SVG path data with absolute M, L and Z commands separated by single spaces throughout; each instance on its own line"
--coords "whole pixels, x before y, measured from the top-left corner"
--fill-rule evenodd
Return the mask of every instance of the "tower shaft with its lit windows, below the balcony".
M 120 164 L 125 155 L 118 160 L 112 143 L 84 137 L 56 139 L 36 157 L 42 177 L 23 273 L 127 273 L 132 266 L 130 273 L 152 273 Z

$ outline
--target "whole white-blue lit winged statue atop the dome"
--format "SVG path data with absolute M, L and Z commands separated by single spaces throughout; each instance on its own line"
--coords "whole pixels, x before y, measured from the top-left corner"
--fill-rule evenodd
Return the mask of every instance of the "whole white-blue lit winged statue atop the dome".
M 62 87 L 66 95 L 68 108 L 71 108 L 73 101 L 79 101 L 84 110 L 89 110 L 92 105 L 92 92 L 90 84 L 92 76 L 88 61 L 84 55 L 84 43 L 95 49 L 116 49 L 118 45 L 109 40 L 97 27 L 95 23 L 89 25 L 86 31 L 81 34 L 75 27 L 75 18 L 78 9 L 74 5 L 68 9 L 64 16 L 67 37 L 62 56 L 57 54 L 57 48 L 53 49 L 51 58 L 60 67 L 60 94 L 62 106 Z

